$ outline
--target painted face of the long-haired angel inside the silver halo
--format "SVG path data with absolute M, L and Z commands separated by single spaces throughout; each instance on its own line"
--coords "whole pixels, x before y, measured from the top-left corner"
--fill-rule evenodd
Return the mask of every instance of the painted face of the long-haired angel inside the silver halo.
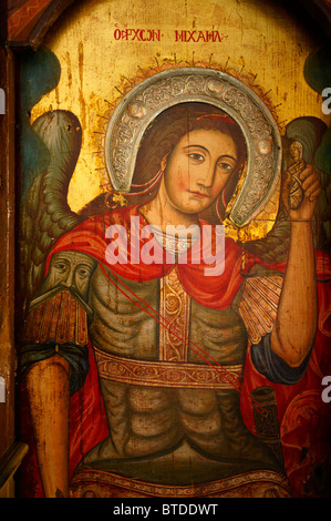
M 232 137 L 215 130 L 184 135 L 168 160 L 164 183 L 169 203 L 183 213 L 200 213 L 221 193 L 237 165 Z

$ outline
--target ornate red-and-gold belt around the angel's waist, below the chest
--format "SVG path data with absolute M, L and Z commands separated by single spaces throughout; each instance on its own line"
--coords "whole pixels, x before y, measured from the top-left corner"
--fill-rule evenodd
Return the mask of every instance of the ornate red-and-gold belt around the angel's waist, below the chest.
M 101 378 L 137 386 L 234 389 L 239 386 L 242 375 L 242 364 L 211 367 L 183 361 L 123 358 L 95 347 L 94 351 Z

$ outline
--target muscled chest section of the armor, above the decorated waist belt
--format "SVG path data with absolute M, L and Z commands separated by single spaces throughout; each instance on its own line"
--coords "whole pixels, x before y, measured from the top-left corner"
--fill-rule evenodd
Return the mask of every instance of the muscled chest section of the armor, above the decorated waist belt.
M 90 334 L 97 351 L 165 362 L 206 365 L 211 357 L 230 366 L 244 362 L 247 334 L 236 307 L 200 306 L 183 288 L 176 268 L 144 283 L 107 276 L 113 283 L 96 269 L 91 282 Z

